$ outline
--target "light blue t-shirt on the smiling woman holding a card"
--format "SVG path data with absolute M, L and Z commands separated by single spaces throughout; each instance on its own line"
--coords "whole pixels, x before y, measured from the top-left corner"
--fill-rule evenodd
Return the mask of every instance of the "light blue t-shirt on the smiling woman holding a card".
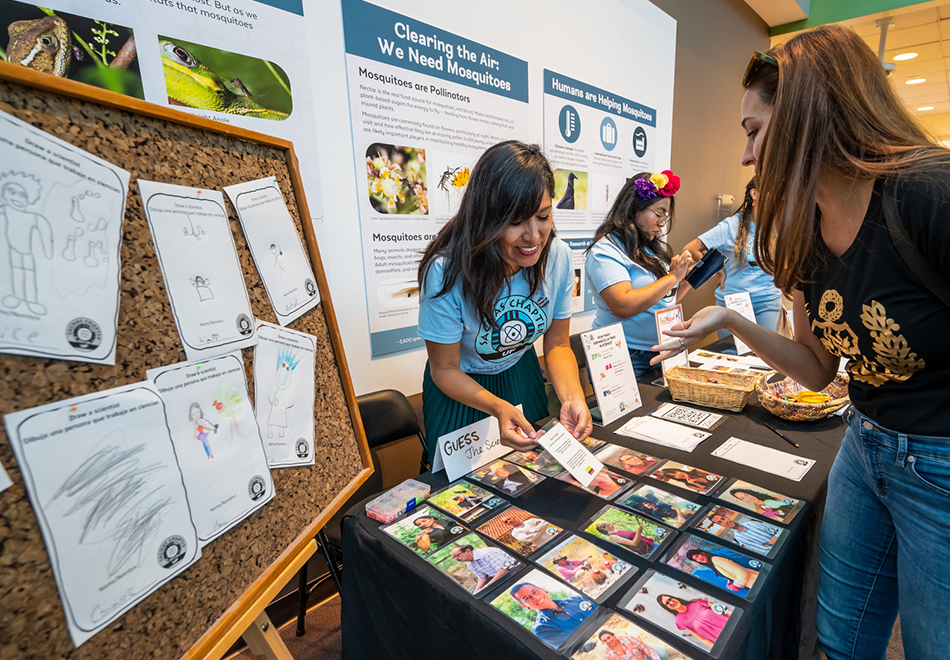
M 469 374 L 497 374 L 513 366 L 545 333 L 554 319 L 571 317 L 574 268 L 571 249 L 559 238 L 551 242 L 544 283 L 534 296 L 523 270 L 508 278 L 495 302 L 497 328 L 482 323 L 475 307 L 462 297 L 462 282 L 444 296 L 443 258 L 432 262 L 419 295 L 419 336 L 439 344 L 460 341 L 460 367 Z

